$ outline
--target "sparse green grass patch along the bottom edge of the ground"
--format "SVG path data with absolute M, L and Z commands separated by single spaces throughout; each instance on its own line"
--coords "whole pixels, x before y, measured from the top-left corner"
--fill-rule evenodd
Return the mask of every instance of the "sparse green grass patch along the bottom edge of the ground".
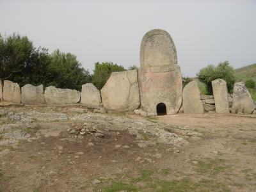
M 110 180 L 110 183 L 97 186 L 95 191 L 230 191 L 224 184 L 212 179 L 202 179 L 198 182 L 184 175 L 182 179 L 166 180 L 169 169 L 160 172 L 155 170 L 140 170 L 138 177 L 125 175 L 120 180 Z M 158 174 L 158 175 L 157 175 Z M 160 175 L 159 175 L 160 174 Z M 120 177 L 117 177 L 120 178 Z M 164 178 L 164 179 L 161 179 Z

